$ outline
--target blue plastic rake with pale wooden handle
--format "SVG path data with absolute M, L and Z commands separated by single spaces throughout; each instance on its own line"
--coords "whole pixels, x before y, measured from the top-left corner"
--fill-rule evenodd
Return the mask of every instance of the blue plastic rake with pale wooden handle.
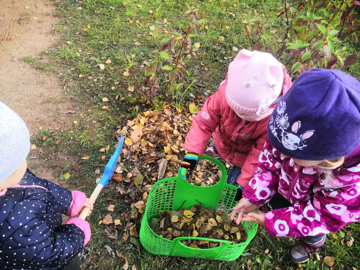
M 96 188 L 94 189 L 93 193 L 91 194 L 89 198 L 89 203 L 94 204 L 96 201 L 96 198 L 98 198 L 98 195 L 100 191 L 103 189 L 104 186 L 106 186 L 109 183 L 110 178 L 112 177 L 117 161 L 120 157 L 122 145 L 124 144 L 124 136 L 119 135 L 119 143 L 117 145 L 117 148 L 115 149 L 115 152 L 111 156 L 109 162 L 105 166 L 104 173 L 101 176 L 100 180 L 96 184 Z M 87 214 L 89 213 L 90 208 L 84 207 L 84 209 L 81 211 L 80 218 L 85 220 L 87 217 Z

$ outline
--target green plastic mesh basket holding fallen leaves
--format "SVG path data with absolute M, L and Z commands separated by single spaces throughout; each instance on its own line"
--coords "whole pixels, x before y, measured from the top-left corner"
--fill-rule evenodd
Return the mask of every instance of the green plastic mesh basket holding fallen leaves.
M 237 188 L 226 184 L 225 166 L 213 157 L 199 156 L 199 159 L 211 161 L 219 166 L 221 171 L 219 183 L 212 186 L 192 185 L 181 177 L 180 168 L 177 177 L 159 180 L 154 184 L 148 196 L 143 220 L 141 221 L 140 242 L 148 252 L 156 255 L 233 261 L 244 252 L 246 246 L 255 236 L 257 231 L 257 224 L 255 222 L 251 222 L 251 226 L 249 226 L 248 222 L 241 222 L 248 237 L 246 242 L 235 245 L 226 240 L 202 237 L 177 237 L 174 240 L 168 240 L 157 235 L 150 228 L 151 219 L 153 217 L 158 218 L 161 211 L 179 210 L 179 208 L 190 209 L 201 202 L 205 208 L 213 206 L 214 209 L 220 209 L 220 211 L 229 213 L 231 208 L 237 204 L 237 201 L 234 201 Z M 182 244 L 180 241 L 184 239 L 209 240 L 223 244 L 215 248 L 198 249 Z

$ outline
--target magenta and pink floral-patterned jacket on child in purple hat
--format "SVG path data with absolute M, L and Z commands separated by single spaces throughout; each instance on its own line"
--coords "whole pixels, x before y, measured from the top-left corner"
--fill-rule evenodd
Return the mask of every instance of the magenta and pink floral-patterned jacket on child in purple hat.
M 293 206 L 266 213 L 270 235 L 327 234 L 360 221 L 360 145 L 345 157 L 341 167 L 332 170 L 332 175 L 325 175 L 314 167 L 296 165 L 267 141 L 258 170 L 243 195 L 261 206 L 276 192 Z

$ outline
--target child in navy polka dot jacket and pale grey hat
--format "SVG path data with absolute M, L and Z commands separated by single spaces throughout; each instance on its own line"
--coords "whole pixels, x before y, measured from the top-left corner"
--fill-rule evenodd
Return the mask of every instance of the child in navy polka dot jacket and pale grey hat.
M 27 169 L 30 136 L 22 119 L 0 102 L 0 269 L 80 270 L 78 254 L 90 225 L 77 215 L 85 193 L 36 177 Z

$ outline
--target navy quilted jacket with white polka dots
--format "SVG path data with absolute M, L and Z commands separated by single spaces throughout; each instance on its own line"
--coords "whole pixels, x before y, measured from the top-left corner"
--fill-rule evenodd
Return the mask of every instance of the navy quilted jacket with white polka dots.
M 72 194 L 27 169 L 0 196 L 0 269 L 63 269 L 84 246 L 84 232 L 62 225 Z

